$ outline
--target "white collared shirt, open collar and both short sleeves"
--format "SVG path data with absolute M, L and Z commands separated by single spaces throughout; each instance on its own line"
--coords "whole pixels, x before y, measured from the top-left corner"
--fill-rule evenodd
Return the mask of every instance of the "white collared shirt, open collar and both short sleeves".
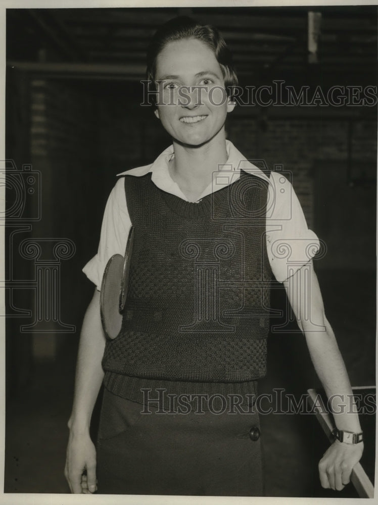
M 270 177 L 267 177 L 257 166 L 246 160 L 230 140 L 226 140 L 226 150 L 227 162 L 214 172 L 212 182 L 197 201 L 238 180 L 241 169 L 268 181 L 266 245 L 273 275 L 278 282 L 283 282 L 310 261 L 319 249 L 319 240 L 315 233 L 308 229 L 297 195 L 285 176 L 279 172 L 271 172 Z M 118 175 L 140 177 L 151 172 L 151 180 L 157 187 L 187 201 L 169 174 L 168 163 L 173 157 L 173 145 L 170 145 L 152 164 Z M 101 289 L 102 277 L 109 259 L 115 254 L 124 255 L 130 227 L 124 178 L 121 177 L 113 187 L 106 204 L 98 252 L 83 268 L 85 275 L 96 284 L 98 290 Z

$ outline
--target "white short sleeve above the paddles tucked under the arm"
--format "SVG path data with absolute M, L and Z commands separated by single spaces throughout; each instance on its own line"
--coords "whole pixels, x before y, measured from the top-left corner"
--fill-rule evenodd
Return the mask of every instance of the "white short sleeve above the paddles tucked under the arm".
M 121 177 L 108 197 L 101 226 L 98 252 L 82 269 L 99 291 L 109 259 L 115 254 L 122 256 L 125 254 L 130 227 L 131 221 L 126 205 L 124 178 Z

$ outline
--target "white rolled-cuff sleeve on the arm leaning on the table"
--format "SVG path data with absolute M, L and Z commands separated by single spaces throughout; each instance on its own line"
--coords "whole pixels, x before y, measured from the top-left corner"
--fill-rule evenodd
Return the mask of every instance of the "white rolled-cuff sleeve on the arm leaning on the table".
M 271 172 L 266 214 L 266 245 L 278 282 L 291 277 L 319 250 L 319 239 L 307 227 L 301 204 L 290 181 Z

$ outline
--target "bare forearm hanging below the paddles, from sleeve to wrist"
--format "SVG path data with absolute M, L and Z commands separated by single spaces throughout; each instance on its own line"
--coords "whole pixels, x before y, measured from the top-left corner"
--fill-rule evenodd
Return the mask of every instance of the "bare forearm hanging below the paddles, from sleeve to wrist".
M 100 293 L 93 295 L 84 316 L 78 349 L 73 407 L 68 427 L 71 432 L 88 432 L 93 407 L 104 377 L 101 360 L 105 335 L 100 317 Z

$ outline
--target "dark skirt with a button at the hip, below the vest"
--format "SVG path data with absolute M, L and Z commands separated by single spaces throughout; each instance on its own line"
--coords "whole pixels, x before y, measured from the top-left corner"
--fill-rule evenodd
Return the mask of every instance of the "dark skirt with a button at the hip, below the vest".
M 253 408 L 233 414 L 143 410 L 105 388 L 99 493 L 263 496 L 260 423 Z

